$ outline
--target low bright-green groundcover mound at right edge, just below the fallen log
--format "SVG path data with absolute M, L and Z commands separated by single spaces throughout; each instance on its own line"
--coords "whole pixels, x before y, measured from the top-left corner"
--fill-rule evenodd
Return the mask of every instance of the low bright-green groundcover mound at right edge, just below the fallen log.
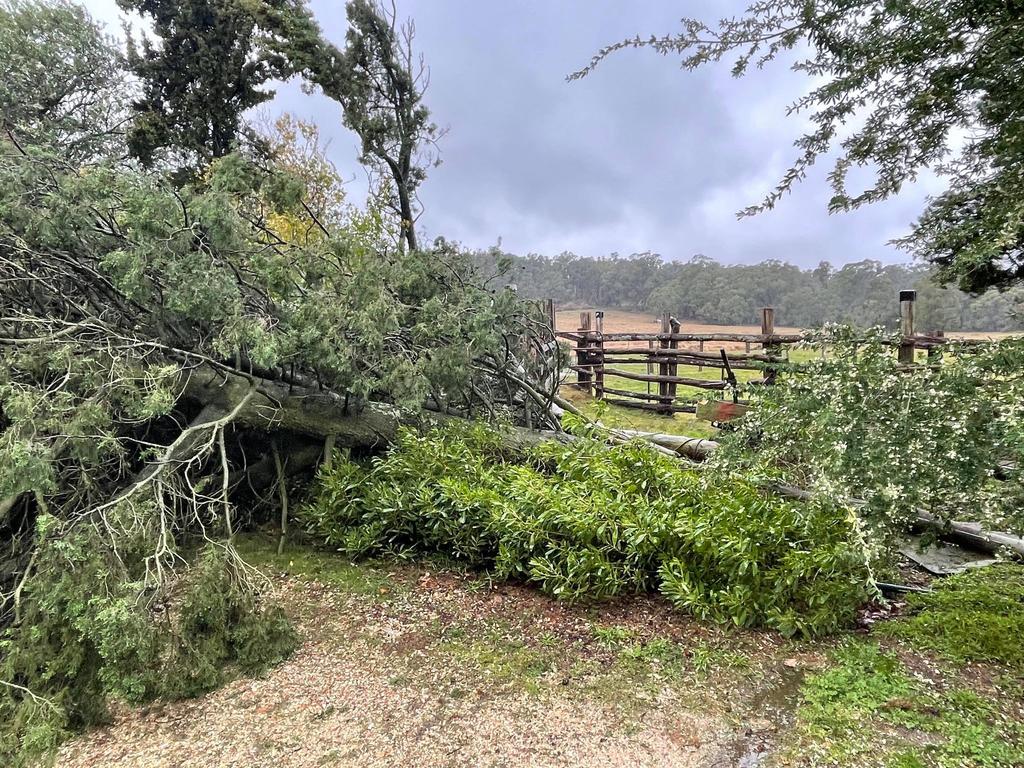
M 910 614 L 877 628 L 953 662 L 988 662 L 1024 672 L 1024 568 L 1002 564 L 943 579 L 907 597 Z

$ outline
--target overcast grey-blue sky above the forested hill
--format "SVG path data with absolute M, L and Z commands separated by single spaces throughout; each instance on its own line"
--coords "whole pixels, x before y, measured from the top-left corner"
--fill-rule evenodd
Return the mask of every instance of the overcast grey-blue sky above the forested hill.
M 85 4 L 119 33 L 114 0 Z M 427 104 L 449 129 L 442 164 L 421 191 L 425 233 L 474 248 L 500 241 L 523 254 L 702 253 L 727 263 L 775 258 L 803 266 L 906 260 L 887 241 L 906 231 L 926 191 L 935 191 L 923 185 L 829 216 L 822 166 L 774 211 L 737 220 L 736 211 L 759 202 L 796 156 L 802 124 L 786 118 L 785 105 L 807 81 L 784 65 L 735 80 L 724 63 L 685 72 L 676 59 L 629 50 L 583 81 L 565 81 L 606 43 L 743 5 L 398 0 L 399 14 L 416 20 L 417 47 L 431 70 Z M 328 36 L 343 42 L 342 0 L 312 7 Z M 283 111 L 321 126 L 360 198 L 365 175 L 337 104 L 286 84 L 270 117 Z

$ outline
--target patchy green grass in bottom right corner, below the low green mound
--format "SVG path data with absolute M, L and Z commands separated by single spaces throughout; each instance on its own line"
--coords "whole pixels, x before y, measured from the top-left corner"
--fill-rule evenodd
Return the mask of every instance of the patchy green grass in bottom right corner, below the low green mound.
M 1024 729 L 1009 701 L 928 685 L 892 653 L 848 640 L 801 691 L 798 736 L 814 765 L 1010 768 Z

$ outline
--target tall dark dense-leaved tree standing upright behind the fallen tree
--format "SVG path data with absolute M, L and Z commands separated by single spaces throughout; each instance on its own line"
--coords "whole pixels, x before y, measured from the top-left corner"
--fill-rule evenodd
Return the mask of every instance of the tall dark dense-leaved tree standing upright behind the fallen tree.
M 142 84 L 129 133 L 131 154 L 144 165 L 163 156 L 202 166 L 229 154 L 242 116 L 273 97 L 268 81 L 293 74 L 261 27 L 262 6 L 279 15 L 304 12 L 301 0 L 118 0 L 153 28 L 141 48 L 129 39 L 128 61 Z

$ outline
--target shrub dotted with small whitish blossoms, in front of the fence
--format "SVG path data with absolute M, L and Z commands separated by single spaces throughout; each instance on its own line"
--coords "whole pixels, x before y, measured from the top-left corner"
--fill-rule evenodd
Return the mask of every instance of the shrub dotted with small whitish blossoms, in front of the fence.
M 720 469 L 861 499 L 873 546 L 924 509 L 971 510 L 995 529 L 1024 529 L 1024 343 L 954 345 L 941 366 L 901 370 L 881 333 L 822 335 L 825 359 L 791 365 L 725 438 Z M 1008 467 L 996 477 L 1000 463 Z

